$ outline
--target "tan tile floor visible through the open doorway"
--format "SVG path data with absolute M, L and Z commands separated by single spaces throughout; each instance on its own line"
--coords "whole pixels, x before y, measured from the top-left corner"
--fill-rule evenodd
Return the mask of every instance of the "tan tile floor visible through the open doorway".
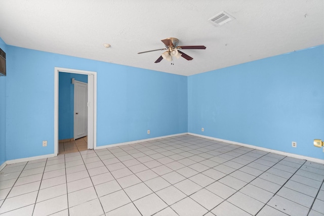
M 71 142 L 59 143 L 59 155 L 88 150 L 88 137 L 82 137 Z

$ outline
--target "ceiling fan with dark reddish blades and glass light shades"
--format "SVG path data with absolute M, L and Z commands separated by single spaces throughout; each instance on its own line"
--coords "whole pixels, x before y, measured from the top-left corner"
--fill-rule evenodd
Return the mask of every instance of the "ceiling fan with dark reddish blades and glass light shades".
M 177 59 L 183 57 L 189 61 L 192 60 L 193 58 L 181 52 L 180 50 L 205 50 L 206 49 L 205 46 L 178 46 L 179 39 L 175 37 L 168 37 L 167 39 L 163 39 L 161 41 L 165 44 L 166 48 L 158 49 L 158 50 L 167 50 L 167 51 L 164 52 L 154 63 L 158 63 L 162 59 L 166 59 L 167 61 L 172 61 L 173 57 L 176 57 Z M 148 53 L 148 52 L 153 52 L 158 50 L 149 50 L 138 54 Z

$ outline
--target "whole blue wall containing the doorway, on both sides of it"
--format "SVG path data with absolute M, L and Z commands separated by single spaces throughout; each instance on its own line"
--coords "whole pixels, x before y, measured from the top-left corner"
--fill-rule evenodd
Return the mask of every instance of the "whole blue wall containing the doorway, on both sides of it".
M 13 46 L 7 66 L 7 160 L 54 153 L 54 67 L 97 71 L 97 146 L 187 132 L 186 76 Z

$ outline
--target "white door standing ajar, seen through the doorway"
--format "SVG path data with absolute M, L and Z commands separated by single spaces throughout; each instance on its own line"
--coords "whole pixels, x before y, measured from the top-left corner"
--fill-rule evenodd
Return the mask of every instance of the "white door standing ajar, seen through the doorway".
M 88 135 L 88 84 L 74 81 L 74 139 Z

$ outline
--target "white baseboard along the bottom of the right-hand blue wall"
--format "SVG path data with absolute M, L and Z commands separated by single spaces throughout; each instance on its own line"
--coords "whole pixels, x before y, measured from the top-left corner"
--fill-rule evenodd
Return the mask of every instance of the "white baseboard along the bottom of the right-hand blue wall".
M 234 141 L 223 140 L 223 139 L 219 139 L 219 138 L 215 138 L 215 137 L 203 136 L 203 135 L 199 135 L 199 134 L 192 134 L 192 133 L 188 133 L 188 134 L 196 136 L 196 137 L 207 138 L 207 139 L 210 139 L 210 140 L 216 140 L 216 141 L 225 142 L 225 143 L 229 143 L 229 144 L 233 144 L 233 145 L 244 146 L 244 147 L 248 147 L 248 148 L 258 149 L 258 150 L 261 150 L 261 151 L 267 151 L 267 152 L 271 152 L 271 153 L 275 153 L 275 154 L 285 155 L 285 156 L 288 156 L 288 157 L 294 157 L 294 158 L 298 158 L 298 159 L 309 160 L 309 161 L 313 161 L 313 162 L 316 162 L 316 163 L 323 163 L 324 164 L 324 160 L 319 159 L 319 158 L 307 157 L 307 156 L 303 156 L 303 155 L 299 155 L 299 154 L 292 154 L 292 153 L 288 153 L 288 152 L 277 151 L 277 150 L 273 150 L 273 149 L 267 149 L 267 148 L 263 148 L 263 147 L 259 147 L 259 146 L 253 146 L 253 145 L 249 145 L 249 144 L 238 143 L 238 142 L 234 142 Z

